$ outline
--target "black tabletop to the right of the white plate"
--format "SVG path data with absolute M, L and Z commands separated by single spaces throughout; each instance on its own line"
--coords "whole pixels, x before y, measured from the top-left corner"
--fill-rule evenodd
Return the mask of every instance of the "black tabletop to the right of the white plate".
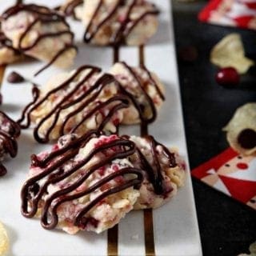
M 210 64 L 210 49 L 226 34 L 242 35 L 246 54 L 256 55 L 256 33 L 198 22 L 206 2 L 174 2 L 174 33 L 177 50 L 195 46 L 198 58 L 178 58 L 182 105 L 191 169 L 219 154 L 229 145 L 222 127 L 238 106 L 256 102 L 256 69 L 242 76 L 237 88 L 227 89 L 214 80 L 218 70 Z M 256 171 L 256 170 L 255 170 Z M 203 255 L 233 256 L 248 253 L 256 240 L 256 211 L 193 180 Z

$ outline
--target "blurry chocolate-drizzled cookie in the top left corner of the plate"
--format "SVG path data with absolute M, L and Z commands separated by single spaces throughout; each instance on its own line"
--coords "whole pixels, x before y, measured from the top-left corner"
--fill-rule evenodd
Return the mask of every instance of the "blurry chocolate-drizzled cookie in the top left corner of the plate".
M 76 55 L 74 34 L 66 19 L 46 6 L 22 4 L 2 14 L 2 33 L 14 49 L 55 66 L 66 68 Z

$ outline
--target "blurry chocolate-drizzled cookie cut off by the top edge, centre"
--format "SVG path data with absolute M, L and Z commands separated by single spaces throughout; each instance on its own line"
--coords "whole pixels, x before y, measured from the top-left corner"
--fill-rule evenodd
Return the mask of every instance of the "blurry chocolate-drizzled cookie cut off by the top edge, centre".
M 140 46 L 158 28 L 158 9 L 142 0 L 86 0 L 84 40 L 97 45 Z

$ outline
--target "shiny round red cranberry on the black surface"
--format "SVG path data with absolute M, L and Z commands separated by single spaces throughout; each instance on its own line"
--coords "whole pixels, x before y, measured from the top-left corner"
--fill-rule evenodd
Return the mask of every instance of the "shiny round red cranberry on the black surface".
M 218 70 L 215 79 L 220 86 L 237 86 L 240 81 L 238 71 L 234 67 L 225 67 Z

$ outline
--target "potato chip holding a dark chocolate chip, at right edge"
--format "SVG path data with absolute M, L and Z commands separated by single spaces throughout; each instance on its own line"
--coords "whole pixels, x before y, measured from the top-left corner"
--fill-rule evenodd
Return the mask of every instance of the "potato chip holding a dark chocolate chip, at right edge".
M 244 155 L 256 154 L 256 102 L 239 107 L 223 130 L 234 150 Z

